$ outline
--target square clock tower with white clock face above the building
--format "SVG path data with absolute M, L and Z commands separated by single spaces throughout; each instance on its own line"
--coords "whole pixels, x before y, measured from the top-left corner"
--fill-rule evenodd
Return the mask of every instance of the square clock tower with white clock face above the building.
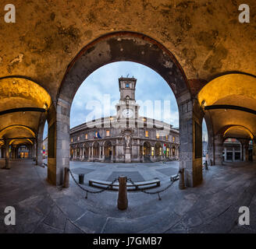
M 119 78 L 120 100 L 116 104 L 117 118 L 137 118 L 140 106 L 135 100 L 137 79 Z

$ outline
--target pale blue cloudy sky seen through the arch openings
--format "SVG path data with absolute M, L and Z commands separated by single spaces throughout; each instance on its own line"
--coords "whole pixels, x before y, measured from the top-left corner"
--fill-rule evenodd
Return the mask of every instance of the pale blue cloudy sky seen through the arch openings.
M 179 112 L 176 98 L 165 79 L 147 66 L 119 61 L 104 65 L 91 73 L 81 84 L 73 99 L 70 111 L 70 128 L 98 117 L 116 115 L 118 102 L 119 77 L 137 79 L 135 99 L 140 104 L 140 115 L 155 117 L 173 127 L 179 127 Z M 151 103 L 152 110 L 144 105 Z M 105 111 L 105 112 L 104 112 Z M 47 124 L 44 138 L 47 136 Z M 207 140 L 206 125 L 203 122 L 203 134 Z

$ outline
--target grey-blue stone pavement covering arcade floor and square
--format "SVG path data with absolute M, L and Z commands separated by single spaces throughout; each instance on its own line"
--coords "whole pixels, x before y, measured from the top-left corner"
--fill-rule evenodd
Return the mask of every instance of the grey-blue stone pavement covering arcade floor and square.
M 0 161 L 3 167 L 4 161 Z M 178 163 L 81 163 L 71 162 L 77 174 L 108 180 L 127 172 L 145 181 L 158 177 L 161 187 Z M 204 171 L 197 188 L 180 191 L 178 182 L 158 195 L 128 192 L 126 211 L 116 208 L 117 191 L 88 194 L 70 178 L 70 187 L 56 188 L 46 181 L 47 167 L 31 160 L 12 161 L 11 170 L 0 170 L 0 233 L 255 233 L 256 163 L 226 163 Z M 98 190 L 90 188 L 91 190 Z M 157 188 L 150 191 L 155 191 Z M 16 209 L 16 226 L 5 226 L 5 206 Z M 238 226 L 240 206 L 250 208 L 250 226 Z

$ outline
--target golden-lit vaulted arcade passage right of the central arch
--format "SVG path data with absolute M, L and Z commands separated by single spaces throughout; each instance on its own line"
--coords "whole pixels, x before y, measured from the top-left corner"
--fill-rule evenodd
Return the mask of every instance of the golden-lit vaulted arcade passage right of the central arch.
M 216 165 L 222 165 L 222 144 L 226 138 L 241 139 L 244 148 L 248 140 L 255 141 L 255 96 L 256 76 L 243 72 L 220 75 L 197 94 L 208 126 L 209 158 Z

